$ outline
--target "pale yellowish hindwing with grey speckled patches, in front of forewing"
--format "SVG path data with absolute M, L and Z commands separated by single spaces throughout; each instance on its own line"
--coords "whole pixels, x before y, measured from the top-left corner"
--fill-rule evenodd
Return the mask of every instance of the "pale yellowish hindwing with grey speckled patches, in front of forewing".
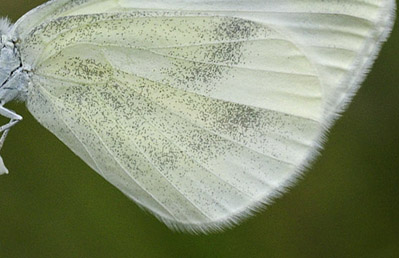
M 170 226 L 222 227 L 266 203 L 321 132 L 315 70 L 264 25 L 171 13 L 76 16 L 25 43 L 23 53 L 37 53 L 32 114 Z

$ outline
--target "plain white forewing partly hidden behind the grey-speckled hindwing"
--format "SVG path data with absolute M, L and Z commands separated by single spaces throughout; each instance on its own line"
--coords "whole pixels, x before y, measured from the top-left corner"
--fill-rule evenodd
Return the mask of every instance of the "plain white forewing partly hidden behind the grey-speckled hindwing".
M 356 93 L 388 37 L 395 9 L 394 0 L 53 0 L 19 19 L 14 33 L 25 38 L 40 24 L 68 15 L 154 10 L 202 12 L 263 23 L 294 42 L 318 71 L 328 127 Z

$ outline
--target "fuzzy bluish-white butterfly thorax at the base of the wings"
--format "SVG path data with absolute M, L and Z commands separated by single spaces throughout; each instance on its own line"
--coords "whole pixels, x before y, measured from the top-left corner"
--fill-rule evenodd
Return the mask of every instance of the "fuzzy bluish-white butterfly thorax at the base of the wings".
M 14 99 L 24 100 L 28 84 L 27 70 L 23 68 L 16 40 L 1 34 L 0 42 L 0 104 Z

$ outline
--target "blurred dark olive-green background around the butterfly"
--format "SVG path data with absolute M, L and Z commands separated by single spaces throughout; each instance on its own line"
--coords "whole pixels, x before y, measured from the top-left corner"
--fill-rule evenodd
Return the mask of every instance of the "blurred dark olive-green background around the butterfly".
M 1 0 L 0 16 L 43 2 Z M 11 174 L 0 176 L 0 257 L 399 257 L 398 84 L 396 26 L 303 179 L 207 236 L 167 229 L 13 104 L 24 121 L 1 154 Z

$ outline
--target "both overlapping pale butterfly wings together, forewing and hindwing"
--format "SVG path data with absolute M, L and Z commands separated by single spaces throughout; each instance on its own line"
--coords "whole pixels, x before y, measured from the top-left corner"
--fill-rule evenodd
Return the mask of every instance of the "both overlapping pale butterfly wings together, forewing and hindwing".
M 33 116 L 168 227 L 286 191 L 365 78 L 393 0 L 54 0 L 17 39 Z M 2 166 L 4 167 L 4 165 Z M 5 168 L 5 167 L 4 167 Z

